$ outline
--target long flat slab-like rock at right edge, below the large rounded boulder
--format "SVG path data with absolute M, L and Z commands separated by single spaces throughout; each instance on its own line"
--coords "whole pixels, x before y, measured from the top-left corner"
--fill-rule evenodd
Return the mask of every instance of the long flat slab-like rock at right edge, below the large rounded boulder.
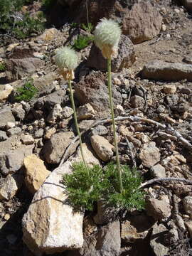
M 192 81 L 192 65 L 183 63 L 167 63 L 163 60 L 152 60 L 144 65 L 142 78 L 153 80 Z

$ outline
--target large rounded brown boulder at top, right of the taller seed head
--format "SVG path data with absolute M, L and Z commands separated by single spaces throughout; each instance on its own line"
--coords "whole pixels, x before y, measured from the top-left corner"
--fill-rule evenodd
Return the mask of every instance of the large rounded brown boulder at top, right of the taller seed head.
M 122 31 L 133 43 L 142 43 L 157 36 L 161 30 L 162 17 L 149 1 L 134 4 L 122 20 Z

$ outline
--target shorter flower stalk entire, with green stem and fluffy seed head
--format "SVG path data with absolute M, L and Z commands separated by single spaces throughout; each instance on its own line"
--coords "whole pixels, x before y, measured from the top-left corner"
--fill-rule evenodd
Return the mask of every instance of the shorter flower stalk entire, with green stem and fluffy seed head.
M 60 70 L 60 74 L 63 75 L 63 78 L 65 80 L 68 80 L 69 90 L 70 90 L 70 100 L 73 107 L 73 116 L 75 119 L 75 127 L 78 132 L 78 137 L 80 140 L 80 152 L 82 156 L 82 161 L 85 164 L 85 169 L 87 169 L 87 165 L 85 163 L 85 158 L 82 151 L 82 139 L 80 136 L 80 129 L 78 127 L 78 118 L 75 110 L 75 102 L 73 97 L 73 89 L 71 85 L 71 80 L 73 80 L 74 77 L 74 70 L 78 66 L 78 55 L 75 53 L 75 50 L 68 46 L 64 46 L 61 48 L 58 48 L 55 51 L 55 64 L 58 66 Z M 87 169 L 87 174 L 89 175 L 89 170 Z

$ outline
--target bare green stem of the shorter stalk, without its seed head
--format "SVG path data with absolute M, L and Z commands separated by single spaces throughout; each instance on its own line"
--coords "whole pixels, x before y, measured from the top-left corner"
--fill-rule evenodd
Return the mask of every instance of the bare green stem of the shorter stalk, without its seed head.
M 81 140 L 81 136 L 80 136 L 80 129 L 78 127 L 78 118 L 77 118 L 77 114 L 76 114 L 76 110 L 75 110 L 75 102 L 74 102 L 74 98 L 73 98 L 73 90 L 72 90 L 72 86 L 71 86 L 71 80 L 68 80 L 68 85 L 69 85 L 69 88 L 70 88 L 70 101 L 72 103 L 72 107 L 73 107 L 73 116 L 74 116 L 74 119 L 75 119 L 75 127 L 76 127 L 76 130 L 78 132 L 78 137 L 79 137 L 79 140 L 80 140 L 80 153 L 81 153 L 81 156 L 82 156 L 82 161 L 83 163 L 85 164 L 85 167 L 87 169 L 87 173 L 88 175 L 89 174 L 89 170 L 87 168 L 87 164 L 85 163 L 85 158 L 83 156 L 83 151 L 82 151 L 82 140 Z

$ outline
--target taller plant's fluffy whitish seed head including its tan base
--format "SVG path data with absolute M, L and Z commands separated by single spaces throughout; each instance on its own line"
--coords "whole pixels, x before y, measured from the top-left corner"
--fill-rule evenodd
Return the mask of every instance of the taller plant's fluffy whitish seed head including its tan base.
M 116 57 L 121 34 L 119 24 L 112 19 L 102 18 L 97 24 L 94 31 L 95 44 L 105 58 Z

